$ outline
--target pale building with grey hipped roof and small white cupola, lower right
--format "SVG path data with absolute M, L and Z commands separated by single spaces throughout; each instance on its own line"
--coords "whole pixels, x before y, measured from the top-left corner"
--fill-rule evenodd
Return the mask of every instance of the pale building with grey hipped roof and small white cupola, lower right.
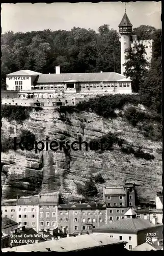
M 109 223 L 107 225 L 94 228 L 93 233 L 108 233 L 112 238 L 126 241 L 126 249 L 131 250 L 134 247 L 146 242 L 147 237 L 157 237 L 162 239 L 162 224 L 155 224 L 149 220 L 137 219 L 133 209 L 125 213 L 125 219 Z

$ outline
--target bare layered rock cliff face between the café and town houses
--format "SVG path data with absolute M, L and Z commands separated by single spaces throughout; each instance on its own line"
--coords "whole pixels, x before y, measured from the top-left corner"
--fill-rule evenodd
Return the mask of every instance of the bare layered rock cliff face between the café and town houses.
M 33 151 L 10 150 L 2 153 L 2 185 L 3 198 L 15 198 L 37 194 L 39 191 L 61 191 L 65 201 L 82 198 L 77 194 L 76 184 L 85 182 L 101 173 L 106 184 L 123 185 L 124 182 L 135 182 L 141 203 L 155 200 L 155 191 L 161 189 L 161 143 L 146 140 L 136 128 L 124 118 L 103 119 L 94 113 L 73 113 L 61 116 L 55 110 L 33 110 L 30 118 L 22 124 L 16 121 L 2 120 L 2 137 L 18 137 L 21 130 L 29 130 L 35 134 L 37 141 L 70 141 L 82 137 L 83 141 L 100 138 L 108 132 L 117 132 L 120 138 L 139 146 L 145 152 L 154 155 L 153 160 L 135 158 L 115 147 L 114 151 L 98 153 L 95 151 Z M 76 147 L 76 146 L 74 146 Z M 103 184 L 96 184 L 98 197 L 103 199 Z

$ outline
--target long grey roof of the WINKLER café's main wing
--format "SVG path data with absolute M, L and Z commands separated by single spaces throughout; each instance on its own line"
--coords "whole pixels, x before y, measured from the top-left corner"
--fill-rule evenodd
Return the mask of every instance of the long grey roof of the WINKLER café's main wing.
M 79 82 L 101 82 L 101 81 L 117 81 L 120 79 L 125 79 L 125 81 L 127 80 L 125 76 L 115 72 L 41 74 L 36 79 L 36 83 L 66 82 L 71 80 L 75 80 Z

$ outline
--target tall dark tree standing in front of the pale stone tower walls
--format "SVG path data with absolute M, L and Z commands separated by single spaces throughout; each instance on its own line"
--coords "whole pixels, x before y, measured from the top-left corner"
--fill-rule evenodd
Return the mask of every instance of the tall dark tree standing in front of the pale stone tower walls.
M 132 90 L 138 92 L 140 84 L 144 81 L 147 73 L 148 61 L 145 58 L 146 51 L 142 44 L 134 44 L 130 49 L 125 50 L 125 72 L 124 75 L 132 79 Z

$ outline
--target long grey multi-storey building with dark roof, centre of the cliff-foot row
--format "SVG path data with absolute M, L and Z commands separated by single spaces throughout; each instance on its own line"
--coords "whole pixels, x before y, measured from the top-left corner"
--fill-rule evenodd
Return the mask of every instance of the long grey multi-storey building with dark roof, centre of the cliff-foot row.
M 70 234 L 90 233 L 106 223 L 106 204 L 59 204 L 58 227 Z

